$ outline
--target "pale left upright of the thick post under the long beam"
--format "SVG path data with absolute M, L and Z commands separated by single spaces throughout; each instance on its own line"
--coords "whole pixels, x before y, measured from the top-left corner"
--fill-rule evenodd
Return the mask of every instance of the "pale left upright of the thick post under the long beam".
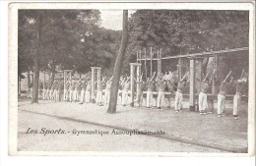
M 195 111 L 195 60 L 190 59 L 189 110 Z

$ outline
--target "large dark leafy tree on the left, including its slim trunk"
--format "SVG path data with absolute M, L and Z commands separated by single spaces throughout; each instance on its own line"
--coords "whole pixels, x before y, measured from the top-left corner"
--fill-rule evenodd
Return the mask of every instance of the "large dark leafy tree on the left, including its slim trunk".
M 38 102 L 39 71 L 51 71 L 53 80 L 56 65 L 69 69 L 76 64 L 70 60 L 78 60 L 81 34 L 96 28 L 98 21 L 95 10 L 19 11 L 19 73 L 33 69 L 32 103 Z

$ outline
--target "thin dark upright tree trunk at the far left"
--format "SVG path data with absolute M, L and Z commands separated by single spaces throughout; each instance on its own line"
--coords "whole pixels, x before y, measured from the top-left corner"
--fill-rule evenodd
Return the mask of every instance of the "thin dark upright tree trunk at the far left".
M 39 14 L 38 31 L 37 31 L 37 44 L 36 44 L 37 47 L 36 47 L 36 51 L 35 51 L 34 58 L 33 58 L 34 76 L 33 76 L 33 83 L 32 83 L 32 103 L 38 103 L 41 20 L 42 20 L 42 16 L 41 16 L 41 14 Z

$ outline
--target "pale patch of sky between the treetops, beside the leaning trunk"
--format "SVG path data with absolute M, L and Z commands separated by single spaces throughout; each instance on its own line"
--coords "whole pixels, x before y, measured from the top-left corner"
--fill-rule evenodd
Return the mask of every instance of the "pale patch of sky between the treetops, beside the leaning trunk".
M 101 26 L 103 28 L 110 28 L 114 30 L 122 29 L 122 19 L 123 11 L 122 10 L 100 10 L 101 12 Z M 135 11 L 129 10 L 128 17 L 131 16 Z

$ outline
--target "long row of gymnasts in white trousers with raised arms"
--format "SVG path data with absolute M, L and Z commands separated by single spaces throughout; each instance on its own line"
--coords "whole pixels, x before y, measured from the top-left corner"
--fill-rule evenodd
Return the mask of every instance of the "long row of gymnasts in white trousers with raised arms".
M 214 72 L 215 73 L 215 72 Z M 201 115 L 207 114 L 208 110 L 208 99 L 207 94 L 210 89 L 210 83 L 213 81 L 213 76 L 208 78 L 208 75 L 205 77 L 203 83 L 201 83 L 201 89 L 199 93 L 198 98 L 198 106 L 199 106 L 199 112 Z M 169 80 L 165 80 L 165 75 L 156 76 L 156 73 L 154 73 L 152 78 L 148 78 L 148 80 L 145 82 L 141 78 L 137 81 L 135 80 L 137 84 L 137 90 L 136 90 L 136 102 L 138 103 L 138 107 L 142 106 L 143 103 L 143 91 L 147 90 L 147 96 L 146 96 L 146 107 L 147 109 L 157 107 L 159 110 L 161 110 L 163 101 L 167 99 L 167 107 L 170 108 L 171 99 L 170 97 L 165 98 L 165 92 L 169 93 L 175 93 L 175 102 L 174 102 L 174 108 L 176 112 L 180 112 L 182 110 L 182 103 L 183 103 L 183 92 L 186 84 L 189 82 L 185 78 L 188 75 L 188 73 L 180 80 L 176 81 L 174 77 L 171 77 Z M 224 79 L 223 83 L 221 83 L 220 86 L 220 92 L 218 94 L 218 117 L 224 116 L 224 110 L 225 110 L 225 94 L 227 90 L 227 83 L 231 83 L 233 80 L 229 80 L 227 82 L 227 78 L 229 77 L 229 74 Z M 111 88 L 111 80 L 110 78 L 108 81 L 105 81 L 105 77 L 103 77 L 102 81 L 97 84 L 97 90 L 96 90 L 96 104 L 102 105 L 109 103 L 110 98 L 110 88 Z M 242 78 L 234 81 L 232 83 L 236 84 L 236 93 L 233 97 L 233 117 L 234 119 L 238 119 L 237 112 L 240 108 L 240 102 L 241 102 L 241 93 L 242 89 L 244 87 L 244 84 L 247 82 L 245 78 Z M 129 90 L 130 90 L 130 78 L 129 77 L 122 77 L 120 79 L 120 87 L 118 91 L 118 98 L 123 106 L 126 106 L 128 102 L 128 96 L 129 96 Z M 50 85 L 50 83 L 45 84 L 45 89 L 40 85 L 41 87 L 41 98 L 51 101 L 70 101 L 70 102 L 79 102 L 80 104 L 83 104 L 84 102 L 89 103 L 92 99 L 91 94 L 91 88 L 92 88 L 92 82 L 91 81 L 68 81 L 65 85 L 64 89 L 64 83 L 63 81 L 55 81 Z M 153 96 L 154 91 L 158 91 L 158 97 L 155 98 Z M 104 98 L 103 98 L 103 89 L 105 91 Z M 169 95 L 170 96 L 170 95 Z M 103 101 L 104 100 L 104 101 Z M 211 113 L 211 111 L 209 111 Z

